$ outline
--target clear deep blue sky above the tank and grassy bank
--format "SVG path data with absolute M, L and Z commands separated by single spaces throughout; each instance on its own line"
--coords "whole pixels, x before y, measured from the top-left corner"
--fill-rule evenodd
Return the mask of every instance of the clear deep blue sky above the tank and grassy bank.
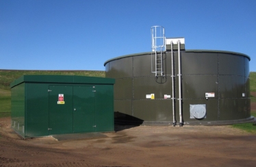
M 105 70 L 151 51 L 151 26 L 185 49 L 244 53 L 256 71 L 255 0 L 0 0 L 0 69 Z

